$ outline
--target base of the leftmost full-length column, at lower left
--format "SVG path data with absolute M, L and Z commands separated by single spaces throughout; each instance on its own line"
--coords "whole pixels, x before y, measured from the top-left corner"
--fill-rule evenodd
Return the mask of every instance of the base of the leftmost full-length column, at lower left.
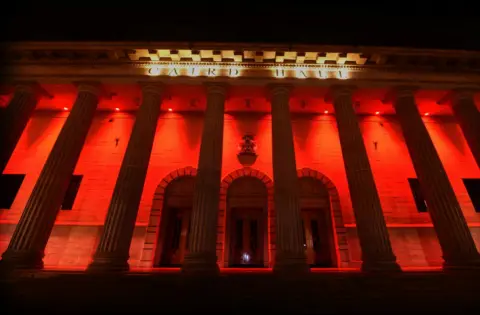
M 0 268 L 2 270 L 15 269 L 43 269 L 43 252 L 32 251 L 11 251 L 8 250 L 2 255 Z

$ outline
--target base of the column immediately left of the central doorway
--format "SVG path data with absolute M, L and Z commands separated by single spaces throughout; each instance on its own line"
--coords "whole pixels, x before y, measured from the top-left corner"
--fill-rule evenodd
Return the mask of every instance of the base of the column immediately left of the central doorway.
M 183 274 L 197 276 L 217 276 L 220 268 L 216 253 L 190 253 L 185 256 L 181 269 Z

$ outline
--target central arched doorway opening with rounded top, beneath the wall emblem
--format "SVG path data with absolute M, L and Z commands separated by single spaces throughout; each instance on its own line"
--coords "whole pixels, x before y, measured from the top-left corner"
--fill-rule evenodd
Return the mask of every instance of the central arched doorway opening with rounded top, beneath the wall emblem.
M 268 192 L 252 176 L 235 179 L 227 191 L 225 261 L 229 267 L 268 266 Z

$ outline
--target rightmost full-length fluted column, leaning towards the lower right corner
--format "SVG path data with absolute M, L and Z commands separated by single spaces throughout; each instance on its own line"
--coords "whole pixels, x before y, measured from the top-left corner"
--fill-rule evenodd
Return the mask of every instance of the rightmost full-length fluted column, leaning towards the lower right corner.
M 392 91 L 393 105 L 442 247 L 444 267 L 480 266 L 480 256 L 445 169 L 418 112 L 414 93 L 415 89 L 411 87 L 396 88 Z

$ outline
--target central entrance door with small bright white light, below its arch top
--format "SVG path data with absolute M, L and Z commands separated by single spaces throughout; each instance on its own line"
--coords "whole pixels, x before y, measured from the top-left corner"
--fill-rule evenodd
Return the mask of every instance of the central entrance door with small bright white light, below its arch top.
M 263 267 L 263 209 L 233 208 L 230 220 L 230 266 Z

